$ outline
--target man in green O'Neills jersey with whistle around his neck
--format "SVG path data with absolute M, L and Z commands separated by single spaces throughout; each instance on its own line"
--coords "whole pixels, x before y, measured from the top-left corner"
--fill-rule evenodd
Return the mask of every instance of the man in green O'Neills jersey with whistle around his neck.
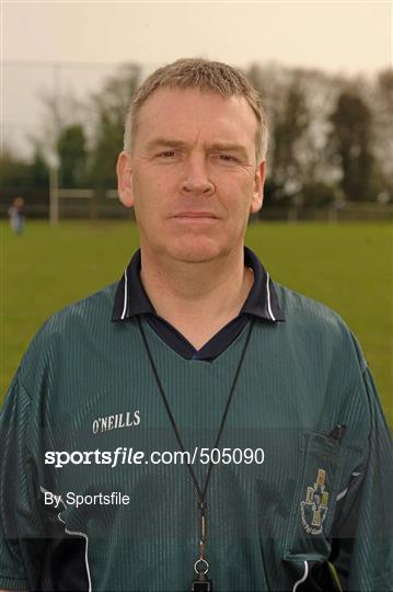
M 244 248 L 266 145 L 227 65 L 178 60 L 134 98 L 117 171 L 140 251 L 49 319 L 2 411 L 3 589 L 392 589 L 362 353 Z

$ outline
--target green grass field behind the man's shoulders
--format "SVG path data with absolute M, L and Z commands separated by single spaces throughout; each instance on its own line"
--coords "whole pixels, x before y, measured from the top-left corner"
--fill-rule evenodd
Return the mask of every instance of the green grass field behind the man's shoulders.
M 28 341 L 59 308 L 118 280 L 138 246 L 130 223 L 1 226 L 1 395 Z M 389 224 L 261 224 L 246 243 L 274 280 L 334 308 L 359 339 L 393 424 L 393 240 Z

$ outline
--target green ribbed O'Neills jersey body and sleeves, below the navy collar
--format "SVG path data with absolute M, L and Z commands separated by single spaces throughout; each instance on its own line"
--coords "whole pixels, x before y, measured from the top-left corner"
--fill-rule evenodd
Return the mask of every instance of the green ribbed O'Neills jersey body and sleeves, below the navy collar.
M 111 322 L 115 285 L 47 321 L 1 412 L 0 588 L 190 590 L 186 465 L 203 483 L 211 462 L 215 592 L 393 589 L 392 449 L 366 361 L 336 314 L 276 289 L 286 322 L 254 320 L 216 449 L 250 322 L 201 362 L 140 319 L 188 456 L 138 320 Z

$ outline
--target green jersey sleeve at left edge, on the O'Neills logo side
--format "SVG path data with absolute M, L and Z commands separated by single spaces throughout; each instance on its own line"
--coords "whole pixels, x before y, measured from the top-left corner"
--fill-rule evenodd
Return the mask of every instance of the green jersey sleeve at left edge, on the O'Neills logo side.
M 32 511 L 25 449 L 31 401 L 14 377 L 0 410 L 0 589 L 27 590 L 21 542 Z

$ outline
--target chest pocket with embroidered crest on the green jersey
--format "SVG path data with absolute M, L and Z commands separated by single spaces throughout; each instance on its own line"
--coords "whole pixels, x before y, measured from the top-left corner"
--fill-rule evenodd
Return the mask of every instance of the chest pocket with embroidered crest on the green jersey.
M 343 446 L 334 437 L 304 433 L 288 523 L 285 559 L 325 561 L 343 471 Z

